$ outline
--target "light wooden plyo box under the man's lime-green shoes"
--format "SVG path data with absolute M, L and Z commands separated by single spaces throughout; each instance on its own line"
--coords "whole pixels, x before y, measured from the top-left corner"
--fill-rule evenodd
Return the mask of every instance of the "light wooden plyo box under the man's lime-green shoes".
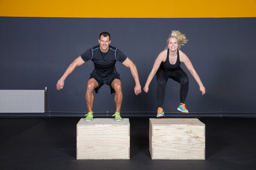
M 77 124 L 77 159 L 129 159 L 129 119 L 81 118 Z

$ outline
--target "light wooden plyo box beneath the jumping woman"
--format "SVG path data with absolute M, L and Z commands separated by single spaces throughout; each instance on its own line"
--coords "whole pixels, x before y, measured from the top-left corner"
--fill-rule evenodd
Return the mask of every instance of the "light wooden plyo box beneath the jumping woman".
M 150 118 L 151 159 L 205 159 L 206 126 L 196 118 Z

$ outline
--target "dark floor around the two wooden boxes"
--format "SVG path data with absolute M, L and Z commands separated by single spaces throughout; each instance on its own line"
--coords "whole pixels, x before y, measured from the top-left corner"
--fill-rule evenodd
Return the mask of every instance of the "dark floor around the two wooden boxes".
M 206 160 L 151 160 L 149 118 L 130 118 L 131 159 L 76 160 L 80 118 L 0 118 L 0 169 L 256 169 L 255 118 L 201 118 Z

